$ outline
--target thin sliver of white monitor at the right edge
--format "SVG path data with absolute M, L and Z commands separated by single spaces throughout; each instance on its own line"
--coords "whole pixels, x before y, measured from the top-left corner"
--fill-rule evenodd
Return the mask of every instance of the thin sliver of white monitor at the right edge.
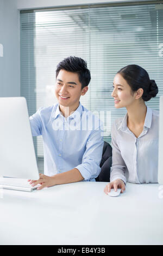
M 159 112 L 158 182 L 163 185 L 163 95 L 160 96 L 160 112 Z

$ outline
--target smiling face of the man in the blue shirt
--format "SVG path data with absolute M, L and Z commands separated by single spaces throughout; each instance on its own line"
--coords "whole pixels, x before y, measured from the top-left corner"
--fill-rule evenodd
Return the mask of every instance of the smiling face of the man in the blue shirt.
M 76 109 L 79 105 L 80 96 L 87 92 L 87 87 L 82 89 L 77 73 L 64 69 L 59 71 L 55 83 L 55 96 L 61 106 Z

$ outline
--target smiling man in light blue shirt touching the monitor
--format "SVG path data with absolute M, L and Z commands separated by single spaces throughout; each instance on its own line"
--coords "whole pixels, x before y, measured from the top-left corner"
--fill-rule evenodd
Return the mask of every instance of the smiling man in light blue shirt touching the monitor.
M 82 58 L 68 57 L 56 70 L 58 104 L 40 108 L 30 125 L 33 136 L 42 135 L 44 175 L 29 180 L 37 189 L 77 181 L 95 181 L 101 172 L 103 137 L 99 119 L 79 102 L 91 80 Z

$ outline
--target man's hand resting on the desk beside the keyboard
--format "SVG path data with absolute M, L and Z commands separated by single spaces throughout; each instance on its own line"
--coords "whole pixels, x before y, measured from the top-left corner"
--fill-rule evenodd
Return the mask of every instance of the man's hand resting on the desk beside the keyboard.
M 40 179 L 39 180 L 28 180 L 29 184 L 31 184 L 33 187 L 36 186 L 37 184 L 40 184 L 40 187 L 37 187 L 37 190 L 42 190 L 44 187 L 52 187 L 55 184 L 54 181 L 54 176 L 47 176 L 42 173 L 39 174 Z

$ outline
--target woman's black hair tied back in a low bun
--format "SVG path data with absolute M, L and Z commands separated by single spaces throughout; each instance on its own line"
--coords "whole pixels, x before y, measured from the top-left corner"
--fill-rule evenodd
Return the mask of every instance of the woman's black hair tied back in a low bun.
M 148 72 L 139 65 L 128 65 L 120 69 L 117 74 L 121 74 L 127 81 L 131 90 L 136 92 L 139 88 L 143 89 L 143 101 L 151 100 L 158 94 L 158 86 L 154 80 L 150 80 Z

